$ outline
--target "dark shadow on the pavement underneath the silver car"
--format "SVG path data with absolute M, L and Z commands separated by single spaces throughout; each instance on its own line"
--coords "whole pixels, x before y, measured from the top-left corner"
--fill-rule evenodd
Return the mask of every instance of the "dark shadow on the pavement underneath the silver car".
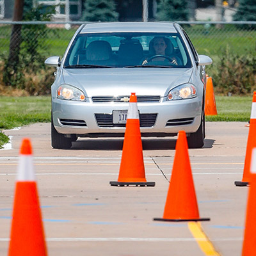
M 177 138 L 142 138 L 143 150 L 174 150 Z M 215 140 L 205 139 L 203 148 L 212 148 Z M 70 150 L 122 150 L 124 139 L 79 139 L 72 142 Z

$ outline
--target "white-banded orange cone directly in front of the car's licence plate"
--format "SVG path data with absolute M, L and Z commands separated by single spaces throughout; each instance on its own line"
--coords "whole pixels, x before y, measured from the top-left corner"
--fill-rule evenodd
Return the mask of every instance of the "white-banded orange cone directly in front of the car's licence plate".
M 135 93 L 130 97 L 118 181 L 109 183 L 111 186 L 155 186 L 155 182 L 147 182 L 145 178 L 140 119 Z

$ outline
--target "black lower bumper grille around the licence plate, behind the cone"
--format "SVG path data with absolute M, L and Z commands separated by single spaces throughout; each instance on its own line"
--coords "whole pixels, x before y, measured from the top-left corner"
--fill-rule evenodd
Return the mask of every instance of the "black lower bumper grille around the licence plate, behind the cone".
M 156 113 L 140 114 L 140 127 L 152 127 L 156 122 Z M 125 127 L 125 124 L 113 124 L 112 114 L 95 114 L 99 127 Z

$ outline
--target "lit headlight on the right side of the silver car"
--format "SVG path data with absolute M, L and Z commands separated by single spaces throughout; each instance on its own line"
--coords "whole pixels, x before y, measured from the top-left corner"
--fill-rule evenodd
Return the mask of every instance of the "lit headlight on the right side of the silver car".
M 193 84 L 182 84 L 172 90 L 167 95 L 167 100 L 191 99 L 196 97 L 196 88 Z

